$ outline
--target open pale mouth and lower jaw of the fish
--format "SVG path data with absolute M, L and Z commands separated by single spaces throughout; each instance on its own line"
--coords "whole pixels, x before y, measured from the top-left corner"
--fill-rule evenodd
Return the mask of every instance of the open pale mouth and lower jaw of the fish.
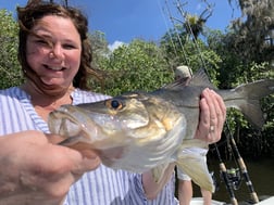
M 48 125 L 51 133 L 64 138 L 58 143 L 59 145 L 78 151 L 92 149 L 107 166 L 112 166 L 124 154 L 124 141 L 117 142 L 108 137 L 103 138 L 97 123 L 90 120 L 88 115 L 84 115 L 79 107 L 62 105 L 49 114 Z

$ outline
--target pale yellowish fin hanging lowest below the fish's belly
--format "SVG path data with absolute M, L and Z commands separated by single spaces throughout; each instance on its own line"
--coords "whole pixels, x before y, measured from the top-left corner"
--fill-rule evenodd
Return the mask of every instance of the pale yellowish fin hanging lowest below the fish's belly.
M 215 188 L 204 157 L 200 153 L 184 152 L 176 161 L 177 169 L 188 175 L 200 188 L 214 192 Z

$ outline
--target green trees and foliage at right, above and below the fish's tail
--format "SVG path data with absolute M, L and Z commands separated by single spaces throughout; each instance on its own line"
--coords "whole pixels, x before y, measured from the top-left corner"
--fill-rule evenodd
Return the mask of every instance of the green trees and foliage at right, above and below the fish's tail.
M 231 89 L 240 84 L 273 78 L 274 33 L 270 33 L 274 25 L 273 4 L 270 1 L 260 1 L 253 2 L 258 3 L 258 7 L 248 8 L 249 4 L 242 2 L 239 1 L 240 9 L 247 18 L 234 21 L 226 34 L 220 30 L 204 30 L 204 27 L 201 27 L 204 38 L 191 41 L 189 39 L 194 37 L 184 25 L 175 25 L 170 29 L 161 39 L 161 47 L 165 50 L 169 64 L 173 67 L 178 63 L 186 64 L 194 71 L 200 66 L 207 67 L 209 76 L 220 89 Z M 241 22 L 245 20 L 246 22 Z M 270 142 L 273 139 L 273 95 L 262 100 L 265 125 L 261 131 L 256 130 L 240 112 L 236 110 L 227 112 L 229 132 L 239 139 L 244 148 L 259 144 L 256 140 L 261 142 L 262 139 L 266 139 L 266 142 Z M 271 146 L 270 143 L 265 148 L 274 150 L 274 145 Z

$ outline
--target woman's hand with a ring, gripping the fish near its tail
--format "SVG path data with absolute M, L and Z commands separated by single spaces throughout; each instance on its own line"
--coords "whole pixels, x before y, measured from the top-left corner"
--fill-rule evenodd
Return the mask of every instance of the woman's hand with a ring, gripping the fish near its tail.
M 226 107 L 223 99 L 213 90 L 204 89 L 200 100 L 200 121 L 195 138 L 208 143 L 221 139 L 226 117 Z

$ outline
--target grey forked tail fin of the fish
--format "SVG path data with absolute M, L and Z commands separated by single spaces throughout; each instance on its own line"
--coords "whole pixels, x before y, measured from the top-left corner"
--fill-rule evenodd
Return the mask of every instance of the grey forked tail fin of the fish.
M 264 118 L 260 107 L 260 100 L 274 93 L 274 79 L 264 79 L 241 85 L 231 91 L 235 93 L 232 107 L 240 110 L 251 124 L 261 128 L 264 124 Z M 235 104 L 237 105 L 235 106 Z

